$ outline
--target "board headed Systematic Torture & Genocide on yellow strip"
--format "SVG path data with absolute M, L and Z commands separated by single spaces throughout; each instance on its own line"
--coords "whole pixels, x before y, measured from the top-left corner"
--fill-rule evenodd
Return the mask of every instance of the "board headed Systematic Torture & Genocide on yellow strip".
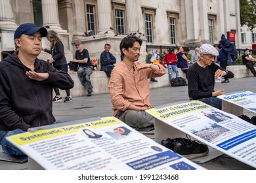
M 39 128 L 8 141 L 44 169 L 204 169 L 114 117 Z

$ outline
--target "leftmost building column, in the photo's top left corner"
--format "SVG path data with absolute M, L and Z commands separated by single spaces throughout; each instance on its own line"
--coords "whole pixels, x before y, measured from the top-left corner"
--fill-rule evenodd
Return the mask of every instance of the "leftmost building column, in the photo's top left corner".
M 0 29 L 16 29 L 11 0 L 0 0 Z

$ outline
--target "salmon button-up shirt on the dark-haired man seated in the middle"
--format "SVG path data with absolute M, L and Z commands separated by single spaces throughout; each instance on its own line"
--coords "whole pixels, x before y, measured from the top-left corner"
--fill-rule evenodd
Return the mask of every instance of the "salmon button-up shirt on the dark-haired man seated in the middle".
M 118 110 L 125 111 L 131 104 L 137 107 L 152 108 L 148 78 L 163 76 L 166 69 L 161 64 L 156 63 L 160 67 L 156 71 L 150 68 L 137 70 L 136 65 L 139 64 L 141 63 L 134 63 L 134 72 L 123 62 L 118 63 L 112 70 L 108 88 L 114 116 Z

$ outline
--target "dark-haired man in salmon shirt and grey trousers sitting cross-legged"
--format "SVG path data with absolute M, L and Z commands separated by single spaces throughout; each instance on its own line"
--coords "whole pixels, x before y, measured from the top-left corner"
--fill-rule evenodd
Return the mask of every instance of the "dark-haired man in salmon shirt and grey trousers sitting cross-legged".
M 124 58 L 112 70 L 108 84 L 114 116 L 137 129 L 154 125 L 154 117 L 145 112 L 152 108 L 148 79 L 166 73 L 160 63 L 136 62 L 141 44 L 142 40 L 135 35 L 128 35 L 120 42 Z

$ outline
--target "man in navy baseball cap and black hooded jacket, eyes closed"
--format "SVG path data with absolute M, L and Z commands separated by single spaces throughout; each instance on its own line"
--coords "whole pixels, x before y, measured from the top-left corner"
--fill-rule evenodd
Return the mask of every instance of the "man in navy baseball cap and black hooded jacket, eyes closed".
M 11 156 L 25 154 L 6 138 L 31 131 L 31 127 L 53 124 L 53 88 L 74 87 L 68 73 L 37 58 L 46 36 L 45 27 L 21 24 L 14 33 L 18 51 L 0 62 L 0 146 Z

